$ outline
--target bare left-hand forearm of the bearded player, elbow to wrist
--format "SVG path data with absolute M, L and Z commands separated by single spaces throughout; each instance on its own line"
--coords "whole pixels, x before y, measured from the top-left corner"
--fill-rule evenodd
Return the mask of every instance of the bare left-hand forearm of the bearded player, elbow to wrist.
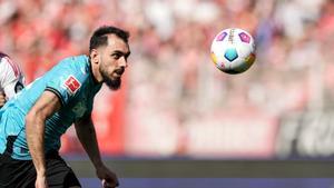
M 27 142 L 38 176 L 46 176 L 45 121 L 36 115 L 26 117 Z

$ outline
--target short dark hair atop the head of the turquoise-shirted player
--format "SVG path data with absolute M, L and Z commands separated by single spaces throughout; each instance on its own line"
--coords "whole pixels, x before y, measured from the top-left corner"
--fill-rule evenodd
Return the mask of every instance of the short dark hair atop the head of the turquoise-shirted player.
M 94 31 L 90 42 L 89 42 L 89 52 L 91 52 L 92 49 L 96 49 L 100 46 L 108 44 L 108 37 L 107 34 L 115 34 L 119 37 L 122 41 L 128 43 L 129 39 L 129 32 L 125 31 L 120 28 L 116 28 L 112 26 L 102 26 Z

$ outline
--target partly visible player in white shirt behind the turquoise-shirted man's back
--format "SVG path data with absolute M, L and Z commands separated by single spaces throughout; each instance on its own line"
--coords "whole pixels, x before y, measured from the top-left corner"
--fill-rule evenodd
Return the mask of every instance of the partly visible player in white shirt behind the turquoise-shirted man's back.
M 20 67 L 0 51 L 0 108 L 23 88 L 24 77 Z

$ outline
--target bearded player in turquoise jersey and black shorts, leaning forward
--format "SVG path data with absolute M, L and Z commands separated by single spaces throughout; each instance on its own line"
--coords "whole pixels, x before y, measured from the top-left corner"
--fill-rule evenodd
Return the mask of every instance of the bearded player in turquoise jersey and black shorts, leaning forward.
M 89 56 L 63 59 L 28 85 L 0 110 L 0 187 L 81 187 L 58 155 L 60 136 L 75 123 L 77 136 L 104 187 L 117 187 L 102 162 L 91 110 L 106 83 L 121 85 L 130 55 L 129 33 L 105 26 L 90 38 Z

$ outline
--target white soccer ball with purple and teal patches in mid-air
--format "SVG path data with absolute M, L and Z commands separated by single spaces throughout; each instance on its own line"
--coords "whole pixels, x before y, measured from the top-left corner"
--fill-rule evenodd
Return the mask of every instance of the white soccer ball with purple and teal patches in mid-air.
M 226 73 L 242 73 L 255 61 L 255 43 L 245 30 L 229 28 L 220 31 L 212 42 L 212 60 Z

